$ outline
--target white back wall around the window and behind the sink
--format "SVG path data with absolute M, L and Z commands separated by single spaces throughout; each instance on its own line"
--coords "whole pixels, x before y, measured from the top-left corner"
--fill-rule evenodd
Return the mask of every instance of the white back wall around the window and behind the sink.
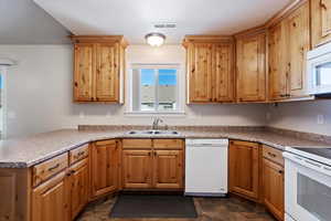
M 125 114 L 126 106 L 72 103 L 72 46 L 0 45 L 0 57 L 19 62 L 8 72 L 8 134 L 10 137 L 75 128 L 79 124 L 151 124 L 152 116 Z M 130 63 L 175 62 L 184 67 L 180 45 L 159 49 L 131 45 Z M 184 78 L 184 72 L 181 72 Z M 184 81 L 182 81 L 184 84 Z M 184 98 L 184 85 L 182 98 Z M 265 125 L 265 105 L 185 105 L 186 114 L 164 116 L 170 125 Z

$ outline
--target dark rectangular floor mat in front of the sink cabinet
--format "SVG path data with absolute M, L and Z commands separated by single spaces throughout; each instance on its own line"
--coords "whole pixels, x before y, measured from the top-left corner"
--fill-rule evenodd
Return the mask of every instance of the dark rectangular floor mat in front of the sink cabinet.
M 197 214 L 191 197 L 120 194 L 110 218 L 197 218 Z

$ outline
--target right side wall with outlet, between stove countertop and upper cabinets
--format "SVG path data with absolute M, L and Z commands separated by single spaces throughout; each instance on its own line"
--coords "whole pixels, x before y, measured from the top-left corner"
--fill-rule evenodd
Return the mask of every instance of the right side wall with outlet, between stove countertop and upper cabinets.
M 331 136 L 331 101 L 282 103 L 267 109 L 268 126 Z M 318 124 L 318 115 L 323 115 L 323 124 Z

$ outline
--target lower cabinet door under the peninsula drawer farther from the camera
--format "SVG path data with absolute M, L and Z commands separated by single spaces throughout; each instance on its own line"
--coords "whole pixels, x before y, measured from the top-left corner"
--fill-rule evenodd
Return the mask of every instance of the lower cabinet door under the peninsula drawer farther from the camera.
M 83 159 L 71 167 L 71 218 L 81 212 L 88 201 L 89 172 L 88 160 Z

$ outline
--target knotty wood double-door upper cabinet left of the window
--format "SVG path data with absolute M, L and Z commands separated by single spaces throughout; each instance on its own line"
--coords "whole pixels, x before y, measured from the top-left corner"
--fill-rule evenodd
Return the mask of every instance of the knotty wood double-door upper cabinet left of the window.
M 125 48 L 122 36 L 72 36 L 74 102 L 122 103 Z

